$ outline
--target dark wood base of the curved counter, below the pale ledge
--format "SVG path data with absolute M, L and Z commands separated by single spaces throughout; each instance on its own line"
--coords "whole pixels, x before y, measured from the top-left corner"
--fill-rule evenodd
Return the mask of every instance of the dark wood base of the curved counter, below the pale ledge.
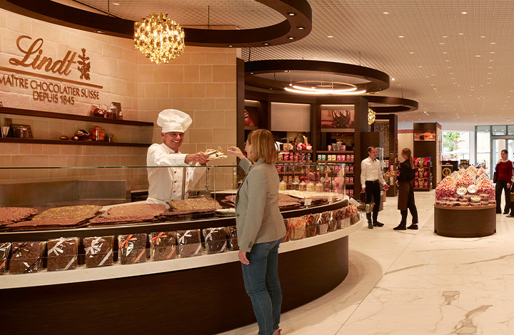
M 278 261 L 284 312 L 343 282 L 348 275 L 348 235 L 283 252 Z M 5 334 L 26 334 L 29 329 L 41 334 L 218 334 L 255 322 L 239 262 L 4 289 L 1 296 Z

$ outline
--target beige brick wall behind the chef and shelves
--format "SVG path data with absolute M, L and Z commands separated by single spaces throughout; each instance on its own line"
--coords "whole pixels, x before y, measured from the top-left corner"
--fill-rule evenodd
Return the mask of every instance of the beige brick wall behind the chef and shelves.
M 201 48 L 186 46 L 185 52 L 169 64 L 155 65 L 133 48 L 126 38 L 104 36 L 76 29 L 68 29 L 43 21 L 29 19 L 0 9 L 0 66 L 15 68 L 9 58 L 21 56 L 16 47 L 20 35 L 43 38 L 44 56 L 63 57 L 66 51 L 86 54 L 91 61 L 89 83 L 103 86 L 99 100 L 76 98 L 73 105 L 34 100 L 31 90 L 0 85 L 0 101 L 6 107 L 44 110 L 74 115 L 89 115 L 91 104 L 109 105 L 118 101 L 126 120 L 155 123 L 158 113 L 166 108 L 183 110 L 191 115 L 193 124 L 186 132 L 181 147 L 183 153 L 196 153 L 207 148 L 226 150 L 236 144 L 236 50 L 231 48 Z M 77 65 L 74 64 L 74 67 Z M 19 67 L 18 67 L 19 68 Z M 20 69 L 20 68 L 19 68 Z M 24 71 L 45 73 L 43 70 L 23 68 Z M 0 70 L 0 76 L 11 75 Z M 56 79 L 41 79 L 26 74 L 16 76 L 59 83 Z M 69 78 L 79 80 L 76 78 Z M 79 84 L 72 85 L 87 88 Z M 0 114 L 12 118 L 13 123 L 31 125 L 34 138 L 55 140 L 60 135 L 71 136 L 79 129 L 92 128 L 95 123 L 30 118 Z M 158 127 L 136 127 L 98 124 L 108 133 L 114 133 L 116 142 L 161 143 Z M 0 143 L 1 168 L 11 167 L 92 167 L 119 165 L 146 165 L 146 148 L 106 147 L 86 145 L 39 145 Z M 235 160 L 218 160 L 216 164 L 231 164 Z M 210 174 L 210 184 L 216 178 L 218 188 L 231 187 L 230 168 L 218 169 Z M 143 171 L 143 172 L 141 172 Z M 46 180 L 131 180 L 132 189 L 147 187 L 146 169 L 80 169 L 80 170 L 0 170 L 0 183 L 19 183 Z M 221 182 L 223 180 L 223 182 Z M 197 187 L 204 188 L 206 180 Z

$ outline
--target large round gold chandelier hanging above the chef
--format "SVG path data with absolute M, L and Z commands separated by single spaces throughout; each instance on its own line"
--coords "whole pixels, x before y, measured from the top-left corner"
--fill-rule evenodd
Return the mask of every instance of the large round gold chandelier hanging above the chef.
M 168 14 L 150 14 L 134 22 L 134 46 L 153 63 L 169 63 L 183 52 L 183 29 Z

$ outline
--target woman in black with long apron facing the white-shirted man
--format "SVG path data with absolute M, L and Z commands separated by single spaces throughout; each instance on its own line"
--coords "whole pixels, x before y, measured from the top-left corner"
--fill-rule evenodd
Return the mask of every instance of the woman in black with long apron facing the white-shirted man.
M 398 210 L 402 215 L 402 220 L 398 227 L 394 230 L 418 229 L 418 209 L 415 207 L 414 202 L 414 162 L 411 157 L 410 149 L 403 148 L 401 151 L 403 163 L 400 164 L 398 170 Z M 413 217 L 412 225 L 407 225 L 407 210 L 410 210 L 410 215 Z

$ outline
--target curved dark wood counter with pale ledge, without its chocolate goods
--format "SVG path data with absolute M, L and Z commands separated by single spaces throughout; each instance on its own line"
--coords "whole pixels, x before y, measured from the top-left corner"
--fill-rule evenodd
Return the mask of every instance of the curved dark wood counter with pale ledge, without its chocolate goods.
M 343 203 L 346 205 L 340 201 L 283 215 L 324 212 L 341 208 Z M 348 275 L 348 235 L 360 230 L 363 222 L 361 219 L 342 230 L 281 244 L 282 311 L 313 301 L 343 282 Z M 204 224 L 213 227 L 211 220 L 194 223 L 194 228 Z M 116 233 L 121 234 L 126 227 L 106 229 L 120 230 Z M 43 232 L 19 234 L 36 233 Z M 0 234 L 3 239 L 4 234 Z M 12 237 L 16 233 L 9 234 Z M 235 251 L 64 272 L 6 274 L 0 276 L 0 292 L 0 315 L 9 320 L 2 326 L 6 334 L 24 332 L 29 320 L 43 334 L 218 334 L 255 322 Z

